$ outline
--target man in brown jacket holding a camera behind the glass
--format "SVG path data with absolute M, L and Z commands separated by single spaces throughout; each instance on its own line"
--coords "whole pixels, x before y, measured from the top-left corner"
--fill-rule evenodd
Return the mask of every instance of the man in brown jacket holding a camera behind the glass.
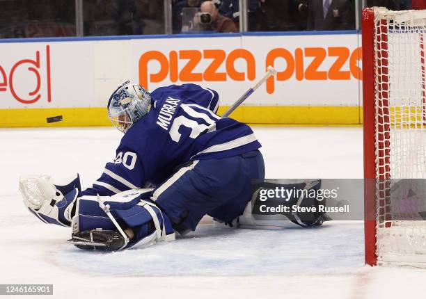
M 212 1 L 204 1 L 201 4 L 200 14 L 196 16 L 196 24 L 199 31 L 238 32 L 234 22 L 221 15 Z

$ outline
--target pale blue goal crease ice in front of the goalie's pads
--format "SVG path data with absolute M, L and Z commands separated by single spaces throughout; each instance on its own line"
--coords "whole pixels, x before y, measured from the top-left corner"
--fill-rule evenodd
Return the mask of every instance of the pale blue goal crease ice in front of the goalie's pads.
M 350 273 L 363 263 L 360 225 L 315 229 L 228 229 L 203 225 L 190 236 L 150 248 L 113 254 L 82 254 L 67 246 L 56 254 L 65 266 L 83 272 L 117 275 L 290 275 Z M 345 243 L 341 240 L 345 239 Z M 326 242 L 328 241 L 328 242 Z M 322 248 L 321 251 L 306 250 Z M 331 252 L 345 252 L 334 257 Z M 79 263 L 74 264 L 76 259 Z M 93 269 L 92 263 L 97 267 Z

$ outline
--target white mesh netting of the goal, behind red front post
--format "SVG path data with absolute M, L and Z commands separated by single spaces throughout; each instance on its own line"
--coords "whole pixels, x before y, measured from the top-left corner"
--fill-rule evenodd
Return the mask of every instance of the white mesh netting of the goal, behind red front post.
M 374 8 L 377 258 L 426 265 L 426 11 Z

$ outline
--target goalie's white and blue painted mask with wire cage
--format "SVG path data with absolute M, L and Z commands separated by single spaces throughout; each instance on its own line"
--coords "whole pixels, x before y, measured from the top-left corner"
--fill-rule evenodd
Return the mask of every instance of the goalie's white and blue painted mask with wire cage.
M 147 115 L 150 108 L 150 93 L 142 86 L 126 81 L 109 98 L 108 117 L 114 127 L 125 133 L 134 122 Z

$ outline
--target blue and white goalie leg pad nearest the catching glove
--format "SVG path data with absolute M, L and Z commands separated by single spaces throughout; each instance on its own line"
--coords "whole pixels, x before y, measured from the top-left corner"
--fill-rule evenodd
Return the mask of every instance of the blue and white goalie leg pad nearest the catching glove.
M 120 250 L 174 240 L 175 232 L 169 218 L 153 202 L 142 199 L 146 192 L 138 192 L 125 191 L 112 197 L 80 197 L 72 219 L 70 243 L 82 249 Z M 120 233 L 127 228 L 134 232 L 134 238 L 129 241 Z M 99 245 L 102 242 L 104 245 Z

